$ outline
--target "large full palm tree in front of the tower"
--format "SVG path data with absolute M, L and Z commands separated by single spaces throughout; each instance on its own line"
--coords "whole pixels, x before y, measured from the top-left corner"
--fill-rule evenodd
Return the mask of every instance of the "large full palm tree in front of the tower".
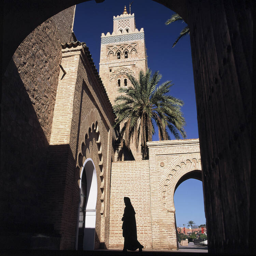
M 167 95 L 173 85 L 166 81 L 157 87 L 161 74 L 151 70 L 140 71 L 139 79 L 126 74 L 133 86 L 119 88 L 121 95 L 115 98 L 114 111 L 116 121 L 114 128 L 121 124 L 122 129 L 117 138 L 117 144 L 123 148 L 130 147 L 130 141 L 135 140 L 138 152 L 141 139 L 142 159 L 148 159 L 147 141 L 152 141 L 155 134 L 154 124 L 158 127 L 159 140 L 170 140 L 169 131 L 175 139 L 186 138 L 184 130 L 185 118 L 181 112 L 182 100 Z M 120 155 L 118 155 L 120 159 Z

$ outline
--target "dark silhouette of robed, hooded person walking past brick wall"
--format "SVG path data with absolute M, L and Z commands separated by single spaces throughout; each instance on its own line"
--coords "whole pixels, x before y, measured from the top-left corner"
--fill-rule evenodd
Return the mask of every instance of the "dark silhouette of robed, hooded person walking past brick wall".
M 123 221 L 123 237 L 124 241 L 124 249 L 123 252 L 130 250 L 136 251 L 139 248 L 139 251 L 142 252 L 143 245 L 137 240 L 137 226 L 135 219 L 135 211 L 133 206 L 131 205 L 131 201 L 129 197 L 124 197 L 125 202 L 125 210 L 122 218 Z

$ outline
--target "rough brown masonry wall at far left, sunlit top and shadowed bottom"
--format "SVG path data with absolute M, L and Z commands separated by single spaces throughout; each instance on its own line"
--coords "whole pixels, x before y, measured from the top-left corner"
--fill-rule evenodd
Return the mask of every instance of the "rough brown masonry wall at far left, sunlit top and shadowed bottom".
M 34 29 L 16 49 L 3 76 L 1 222 L 8 230 L 25 231 L 43 222 L 40 208 L 60 70 L 60 43 L 73 40 L 73 14 L 74 6 Z

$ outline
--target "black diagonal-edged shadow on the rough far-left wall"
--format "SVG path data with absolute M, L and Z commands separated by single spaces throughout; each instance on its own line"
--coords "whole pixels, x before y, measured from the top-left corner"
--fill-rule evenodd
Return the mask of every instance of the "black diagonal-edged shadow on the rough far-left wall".
M 37 231 L 48 142 L 13 60 L 2 82 L 1 223 L 6 231 Z

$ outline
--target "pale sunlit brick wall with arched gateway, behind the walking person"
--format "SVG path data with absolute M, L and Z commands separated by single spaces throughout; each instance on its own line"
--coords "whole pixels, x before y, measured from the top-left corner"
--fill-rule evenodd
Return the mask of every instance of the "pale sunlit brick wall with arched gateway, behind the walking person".
M 147 146 L 149 160 L 112 163 L 110 248 L 123 246 L 122 229 L 117 227 L 122 227 L 124 196 L 131 199 L 138 240 L 146 249 L 179 248 L 173 196 L 183 181 L 202 180 L 199 140 L 147 142 Z

